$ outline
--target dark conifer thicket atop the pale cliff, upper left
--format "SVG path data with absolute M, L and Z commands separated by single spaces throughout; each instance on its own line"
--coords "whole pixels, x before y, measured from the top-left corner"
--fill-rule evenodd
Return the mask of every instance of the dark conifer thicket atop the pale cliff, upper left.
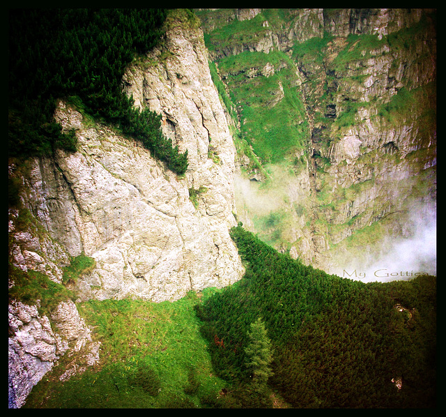
M 165 9 L 17 9 L 9 15 L 8 146 L 10 156 L 76 150 L 73 132 L 52 116 L 56 99 L 74 100 L 96 119 L 143 142 L 155 158 L 183 174 L 178 153 L 160 130 L 160 116 L 132 107 L 123 94 L 125 67 L 162 36 Z

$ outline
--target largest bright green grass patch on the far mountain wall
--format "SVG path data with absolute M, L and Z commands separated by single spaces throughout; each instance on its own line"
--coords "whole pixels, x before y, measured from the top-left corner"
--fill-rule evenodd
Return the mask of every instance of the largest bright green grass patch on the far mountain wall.
M 243 52 L 221 59 L 218 68 L 243 122 L 241 135 L 264 165 L 305 146 L 309 126 L 295 89 L 295 64 L 286 54 Z

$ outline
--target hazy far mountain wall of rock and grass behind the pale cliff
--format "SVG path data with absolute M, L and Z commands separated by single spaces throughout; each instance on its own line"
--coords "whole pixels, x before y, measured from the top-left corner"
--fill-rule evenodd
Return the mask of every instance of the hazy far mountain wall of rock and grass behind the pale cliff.
M 238 217 L 247 227 L 338 274 L 364 271 L 399 238 L 432 228 L 435 10 L 197 15 L 240 138 Z M 435 273 L 434 257 L 394 267 Z

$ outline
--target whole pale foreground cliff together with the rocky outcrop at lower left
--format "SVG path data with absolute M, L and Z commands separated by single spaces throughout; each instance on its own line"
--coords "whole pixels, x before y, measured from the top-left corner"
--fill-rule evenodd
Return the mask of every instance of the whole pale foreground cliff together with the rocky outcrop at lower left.
M 10 261 L 61 283 L 70 260 L 94 259 L 93 268 L 70 282 L 77 301 L 174 301 L 243 275 L 229 236 L 236 225 L 235 148 L 203 34 L 181 13 L 167 25 L 160 47 L 128 69 L 123 89 L 136 105 L 161 114 L 164 134 L 187 149 L 184 176 L 63 101 L 54 117 L 64 129 L 75 129 L 78 151 L 10 165 L 11 178 L 20 182 L 20 208 L 9 216 Z M 9 285 L 14 288 L 13 277 Z M 72 301 L 51 314 L 17 302 L 9 317 L 10 405 L 20 407 L 66 351 L 82 344 L 98 350 Z

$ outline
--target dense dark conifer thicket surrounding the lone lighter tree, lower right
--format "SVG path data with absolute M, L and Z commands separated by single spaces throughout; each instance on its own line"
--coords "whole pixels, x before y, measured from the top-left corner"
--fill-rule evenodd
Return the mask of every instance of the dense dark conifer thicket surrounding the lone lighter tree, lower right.
M 231 407 L 268 407 L 268 390 L 298 408 L 435 406 L 435 277 L 353 281 L 280 254 L 240 224 L 231 234 L 245 277 L 197 306 L 214 366 L 238 387 Z M 258 320 L 272 352 L 261 388 L 246 365 Z

